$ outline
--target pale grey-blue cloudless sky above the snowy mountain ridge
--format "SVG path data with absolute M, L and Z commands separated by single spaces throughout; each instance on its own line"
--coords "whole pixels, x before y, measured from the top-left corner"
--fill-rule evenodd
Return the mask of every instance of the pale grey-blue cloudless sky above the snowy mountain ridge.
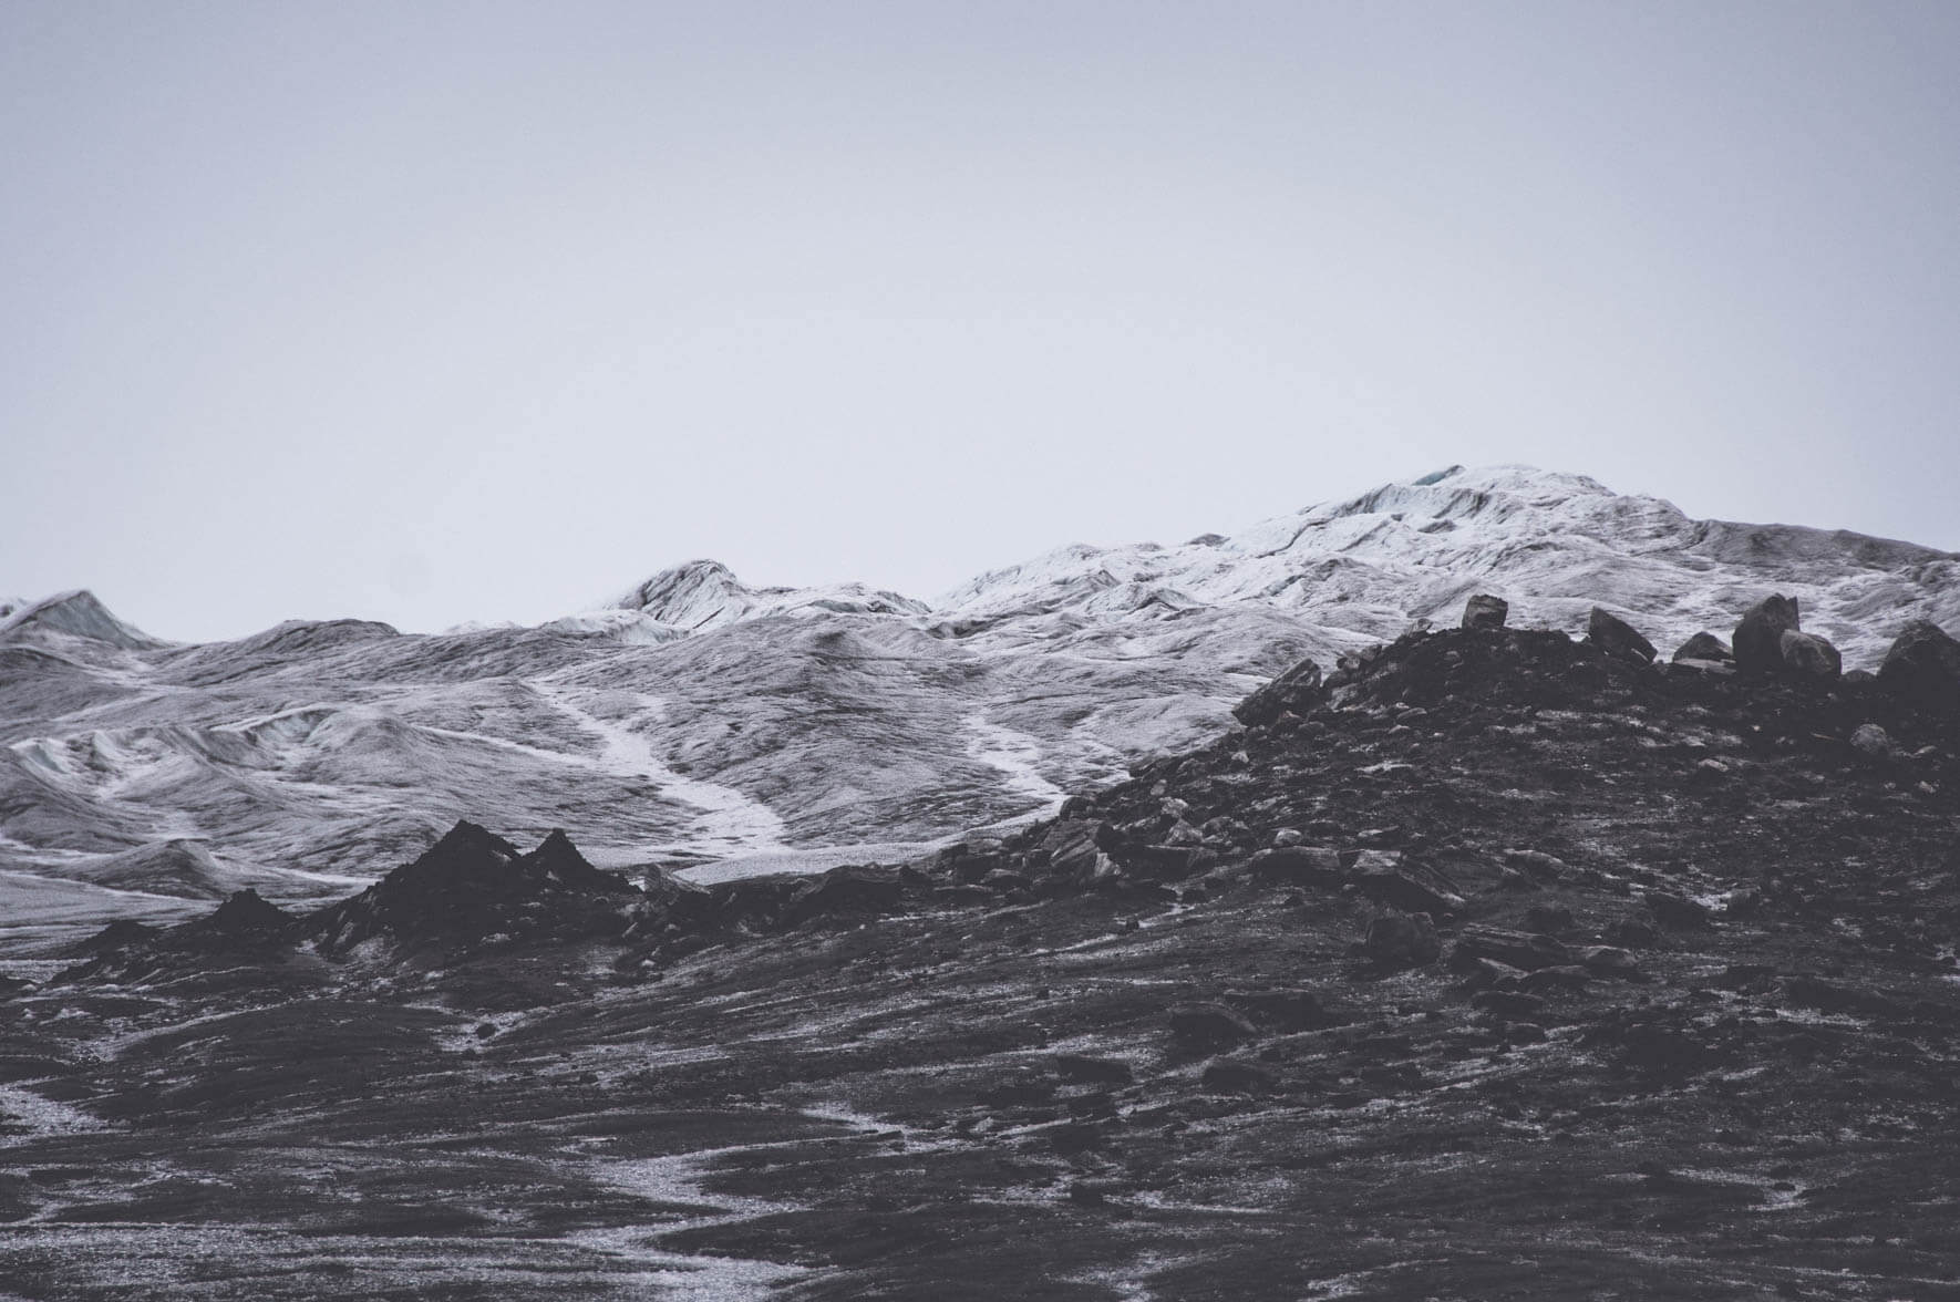
M 1960 549 L 1960 6 L 0 0 L 0 596 L 933 596 L 1450 463 Z

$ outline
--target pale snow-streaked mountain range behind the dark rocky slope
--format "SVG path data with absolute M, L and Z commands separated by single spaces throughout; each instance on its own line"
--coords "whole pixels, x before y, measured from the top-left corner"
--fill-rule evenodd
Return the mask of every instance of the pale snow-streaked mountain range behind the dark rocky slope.
M 1523 467 L 1176 547 L 1062 547 L 933 602 L 694 561 L 539 627 L 176 645 L 67 592 L 0 614 L 0 873 L 343 894 L 457 818 L 570 827 L 610 867 L 931 841 L 1225 729 L 1299 657 L 1454 622 L 1472 592 L 1574 633 L 1599 604 L 1664 653 L 1768 592 L 1846 667 L 1915 618 L 1960 629 L 1960 555 L 1697 522 Z

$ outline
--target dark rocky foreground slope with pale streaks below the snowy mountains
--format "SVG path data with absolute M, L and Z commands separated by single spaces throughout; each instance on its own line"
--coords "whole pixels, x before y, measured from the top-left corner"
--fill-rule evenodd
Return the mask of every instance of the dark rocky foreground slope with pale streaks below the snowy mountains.
M 0 1292 L 1960 1296 L 1950 718 L 1513 631 L 1250 714 L 913 865 L 459 827 L 16 965 Z

